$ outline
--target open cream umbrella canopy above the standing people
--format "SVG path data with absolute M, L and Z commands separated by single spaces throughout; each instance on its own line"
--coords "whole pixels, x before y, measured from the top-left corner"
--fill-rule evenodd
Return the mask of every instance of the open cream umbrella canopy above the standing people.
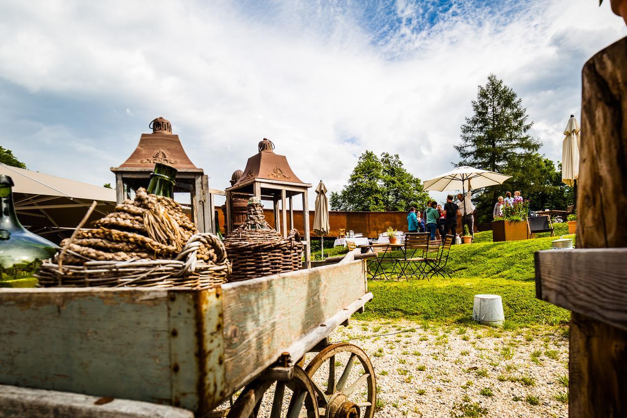
M 473 189 L 488 187 L 490 185 L 503 184 L 511 175 L 500 174 L 493 171 L 475 169 L 464 165 L 449 172 L 438 175 L 433 179 L 424 180 L 425 191 L 451 191 L 468 190 L 468 181 Z

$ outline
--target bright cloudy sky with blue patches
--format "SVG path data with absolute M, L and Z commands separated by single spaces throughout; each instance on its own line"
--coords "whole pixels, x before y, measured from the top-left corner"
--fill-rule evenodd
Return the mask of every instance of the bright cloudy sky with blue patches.
M 219 189 L 263 137 L 331 191 L 366 149 L 398 153 L 428 179 L 458 160 L 460 125 L 491 72 L 559 160 L 582 65 L 627 35 L 597 0 L 0 0 L 0 10 L 0 145 L 29 169 L 99 185 L 157 116 Z

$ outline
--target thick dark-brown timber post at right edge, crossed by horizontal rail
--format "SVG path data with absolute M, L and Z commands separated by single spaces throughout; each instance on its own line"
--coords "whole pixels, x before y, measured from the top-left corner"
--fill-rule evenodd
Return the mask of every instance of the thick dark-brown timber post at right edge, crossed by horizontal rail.
M 627 246 L 626 89 L 623 38 L 594 55 L 582 70 L 577 248 Z M 599 289 L 599 295 L 609 291 Z M 592 297 L 589 303 L 601 302 Z M 627 416 L 627 332 L 573 312 L 570 352 L 569 415 Z

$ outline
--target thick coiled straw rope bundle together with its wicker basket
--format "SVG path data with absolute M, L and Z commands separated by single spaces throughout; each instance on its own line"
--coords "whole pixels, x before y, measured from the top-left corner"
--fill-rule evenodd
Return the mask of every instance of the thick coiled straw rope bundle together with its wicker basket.
M 220 285 L 230 273 L 224 244 L 199 234 L 174 200 L 138 189 L 133 201 L 61 241 L 42 264 L 41 286 Z

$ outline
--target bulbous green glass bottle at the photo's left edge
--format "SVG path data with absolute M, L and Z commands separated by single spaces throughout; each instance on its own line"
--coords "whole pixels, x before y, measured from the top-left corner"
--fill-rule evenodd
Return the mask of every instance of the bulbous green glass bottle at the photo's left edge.
M 58 246 L 26 231 L 13 206 L 13 179 L 0 175 L 0 286 L 13 287 L 9 281 L 33 278 L 41 261 L 55 255 Z M 3 283 L 4 282 L 4 283 Z M 24 281 L 34 285 L 36 281 Z M 26 284 L 14 284 L 27 286 Z

